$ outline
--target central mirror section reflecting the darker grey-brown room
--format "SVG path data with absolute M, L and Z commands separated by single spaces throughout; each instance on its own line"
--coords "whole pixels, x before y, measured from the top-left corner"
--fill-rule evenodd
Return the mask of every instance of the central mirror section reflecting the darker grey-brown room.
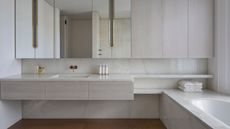
M 55 0 L 61 58 L 92 58 L 92 0 Z

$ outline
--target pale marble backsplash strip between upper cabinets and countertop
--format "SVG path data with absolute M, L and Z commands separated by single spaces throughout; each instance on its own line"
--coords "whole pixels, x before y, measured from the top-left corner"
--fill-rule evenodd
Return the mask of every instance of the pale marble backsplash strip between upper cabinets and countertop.
M 98 73 L 100 64 L 108 64 L 114 74 L 207 74 L 207 59 L 26 59 L 22 73 L 34 73 L 37 65 L 46 73 L 73 73 L 70 65 L 77 65 L 75 73 Z

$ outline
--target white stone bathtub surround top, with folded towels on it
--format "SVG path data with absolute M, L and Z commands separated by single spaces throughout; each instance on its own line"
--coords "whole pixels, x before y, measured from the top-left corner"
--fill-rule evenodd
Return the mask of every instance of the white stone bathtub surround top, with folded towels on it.
M 230 103 L 230 96 L 219 94 L 209 90 L 205 90 L 202 93 L 186 93 L 177 89 L 164 90 L 163 94 L 169 96 L 172 100 L 174 100 L 176 103 L 181 105 L 188 112 L 192 113 L 194 116 L 199 118 L 201 121 L 206 123 L 211 128 L 230 129 L 229 126 L 225 125 L 224 123 L 220 122 L 214 117 L 210 117 L 209 114 L 198 109 L 192 104 L 192 101 L 200 100 L 200 99 L 211 99 L 211 100 L 214 99 L 214 100 L 221 100 Z

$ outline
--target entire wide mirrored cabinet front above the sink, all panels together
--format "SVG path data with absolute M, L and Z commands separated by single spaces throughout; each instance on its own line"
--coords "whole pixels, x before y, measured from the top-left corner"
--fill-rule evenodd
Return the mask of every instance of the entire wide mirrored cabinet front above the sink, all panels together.
M 16 0 L 16 58 L 131 58 L 130 0 Z

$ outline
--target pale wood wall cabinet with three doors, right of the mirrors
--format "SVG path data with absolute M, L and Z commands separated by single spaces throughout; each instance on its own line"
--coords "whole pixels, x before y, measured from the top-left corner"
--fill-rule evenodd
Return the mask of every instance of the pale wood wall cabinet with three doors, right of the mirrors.
M 133 58 L 212 58 L 214 0 L 132 0 Z

